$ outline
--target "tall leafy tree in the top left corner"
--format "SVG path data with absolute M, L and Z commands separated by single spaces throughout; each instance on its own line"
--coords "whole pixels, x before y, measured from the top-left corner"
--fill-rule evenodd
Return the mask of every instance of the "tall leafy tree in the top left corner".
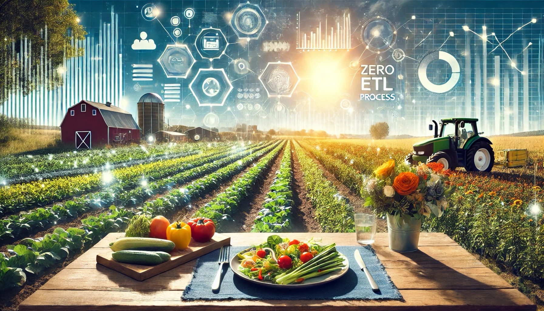
M 71 43 L 72 40 L 83 40 L 86 32 L 79 25 L 73 5 L 67 0 L 0 0 L 0 105 L 9 94 L 4 90 L 15 88 L 17 79 L 25 93 L 35 87 L 30 79 L 40 65 L 41 47 L 46 44 L 46 25 L 47 57 L 51 59 L 53 68 L 62 65 L 65 57 L 83 54 L 83 49 L 77 49 Z M 21 64 L 13 55 L 24 53 L 21 38 L 25 36 L 32 42 L 28 51 L 32 63 L 29 71 L 19 73 Z M 59 78 L 58 72 L 54 71 L 53 78 Z

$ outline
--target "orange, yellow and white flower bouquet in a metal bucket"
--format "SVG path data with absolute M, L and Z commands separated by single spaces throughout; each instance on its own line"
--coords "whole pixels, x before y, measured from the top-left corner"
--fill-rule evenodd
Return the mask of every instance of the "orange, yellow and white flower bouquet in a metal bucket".
M 417 166 L 389 160 L 364 180 L 364 206 L 373 206 L 376 214 L 387 216 L 390 248 L 416 251 L 422 216 L 442 216 L 448 198 L 455 192 L 448 172 L 441 163 Z

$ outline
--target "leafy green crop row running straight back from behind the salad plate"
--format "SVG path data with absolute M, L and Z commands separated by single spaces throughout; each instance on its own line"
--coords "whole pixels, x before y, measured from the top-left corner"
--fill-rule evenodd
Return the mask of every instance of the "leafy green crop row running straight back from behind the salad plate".
M 286 232 L 291 228 L 293 191 L 293 167 L 291 164 L 291 144 L 287 143 L 280 163 L 280 169 L 259 210 L 251 232 Z

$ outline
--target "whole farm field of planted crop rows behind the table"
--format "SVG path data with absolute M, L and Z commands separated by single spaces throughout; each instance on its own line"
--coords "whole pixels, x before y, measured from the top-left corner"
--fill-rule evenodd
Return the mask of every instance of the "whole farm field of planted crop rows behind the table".
M 363 207 L 364 178 L 390 158 L 404 161 L 421 140 L 295 137 L 5 156 L 0 309 L 16 310 L 86 249 L 123 231 L 136 214 L 170 221 L 205 216 L 219 232 L 353 231 L 353 214 L 372 212 Z M 449 172 L 458 186 L 452 205 L 444 217 L 426 221 L 424 230 L 447 233 L 516 282 L 543 284 L 544 220 L 527 209 L 535 192 L 542 200 L 534 182 L 544 182 L 544 137 L 491 140 L 497 157 L 500 149 L 528 148 L 530 163 L 489 173 Z M 383 219 L 378 231 L 387 231 Z M 531 292 L 542 304 L 540 292 Z

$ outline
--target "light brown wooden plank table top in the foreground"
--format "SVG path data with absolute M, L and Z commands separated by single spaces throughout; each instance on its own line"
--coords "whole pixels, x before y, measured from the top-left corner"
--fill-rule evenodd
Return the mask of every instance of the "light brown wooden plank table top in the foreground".
M 387 233 L 376 234 L 373 247 L 404 301 L 389 300 L 276 300 L 181 301 L 195 260 L 158 276 L 134 280 L 96 263 L 112 233 L 52 277 L 20 304 L 21 311 L 43 310 L 536 310 L 520 291 L 485 267 L 442 233 L 422 233 L 419 250 L 396 253 L 388 247 Z M 266 233 L 232 233 L 231 244 L 246 246 L 266 240 Z M 290 238 L 322 238 L 323 243 L 356 245 L 353 233 L 290 233 Z M 210 280 L 211 286 L 212 280 Z

